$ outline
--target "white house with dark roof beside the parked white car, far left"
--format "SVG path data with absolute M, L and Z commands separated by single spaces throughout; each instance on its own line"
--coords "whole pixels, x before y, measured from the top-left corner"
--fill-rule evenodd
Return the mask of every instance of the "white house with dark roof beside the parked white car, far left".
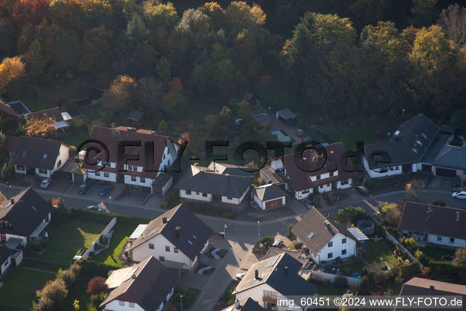
M 69 145 L 61 141 L 21 136 L 12 164 L 18 174 L 50 178 L 69 159 Z

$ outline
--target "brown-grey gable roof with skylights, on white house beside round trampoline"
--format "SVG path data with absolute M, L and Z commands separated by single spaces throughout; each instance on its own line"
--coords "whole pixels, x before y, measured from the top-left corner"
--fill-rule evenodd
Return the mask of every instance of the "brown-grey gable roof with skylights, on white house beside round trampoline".
M 329 221 L 329 228 L 325 227 Z M 333 217 L 325 217 L 315 207 L 312 207 L 298 223 L 291 228 L 291 232 L 314 254 L 321 251 L 337 233 L 359 242 L 340 221 Z M 313 233 L 311 238 L 309 235 Z

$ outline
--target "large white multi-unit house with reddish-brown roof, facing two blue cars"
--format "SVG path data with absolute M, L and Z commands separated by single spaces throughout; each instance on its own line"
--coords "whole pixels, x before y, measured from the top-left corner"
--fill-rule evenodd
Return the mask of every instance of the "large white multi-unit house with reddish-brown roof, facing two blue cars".
M 93 159 L 96 164 L 84 161 L 81 166 L 88 172 L 88 178 L 124 184 L 126 187 L 134 186 L 140 193 L 165 194 L 171 187 L 171 176 L 168 179 L 161 176 L 164 184 L 161 188 L 157 187 L 161 184 L 158 177 L 178 158 L 178 144 L 171 138 L 132 127 L 120 126 L 112 129 L 94 126 L 91 139 L 101 141 L 109 154 L 89 153 L 89 159 Z M 124 153 L 119 154 L 118 149 L 122 144 L 126 145 Z M 89 147 L 91 146 L 99 150 L 103 148 L 96 143 L 89 143 Z

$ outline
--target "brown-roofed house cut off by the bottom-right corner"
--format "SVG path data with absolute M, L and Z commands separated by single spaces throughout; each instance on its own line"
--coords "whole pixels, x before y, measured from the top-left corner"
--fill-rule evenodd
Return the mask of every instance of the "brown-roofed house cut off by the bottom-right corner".
M 446 283 L 440 281 L 434 281 L 429 279 L 424 279 L 420 277 L 413 277 L 408 282 L 403 284 L 403 287 L 400 291 L 400 297 L 402 296 L 432 296 L 432 297 L 442 297 L 442 296 L 463 296 L 463 301 L 465 301 L 466 295 L 466 286 Z M 449 302 L 449 301 L 448 301 Z M 438 308 L 441 310 L 442 308 Z M 460 308 L 461 309 L 461 308 Z M 396 307 L 395 310 L 398 311 L 429 311 L 433 310 L 432 308 L 407 308 L 406 306 Z

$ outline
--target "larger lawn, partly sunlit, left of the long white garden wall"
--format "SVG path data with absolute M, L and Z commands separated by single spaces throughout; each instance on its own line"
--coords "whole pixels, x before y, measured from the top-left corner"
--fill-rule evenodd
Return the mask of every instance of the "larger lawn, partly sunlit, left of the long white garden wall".
M 53 224 L 48 232 L 49 241 L 39 260 L 69 265 L 82 248 L 89 248 L 107 227 L 108 223 L 83 219 L 70 219 L 66 223 Z

